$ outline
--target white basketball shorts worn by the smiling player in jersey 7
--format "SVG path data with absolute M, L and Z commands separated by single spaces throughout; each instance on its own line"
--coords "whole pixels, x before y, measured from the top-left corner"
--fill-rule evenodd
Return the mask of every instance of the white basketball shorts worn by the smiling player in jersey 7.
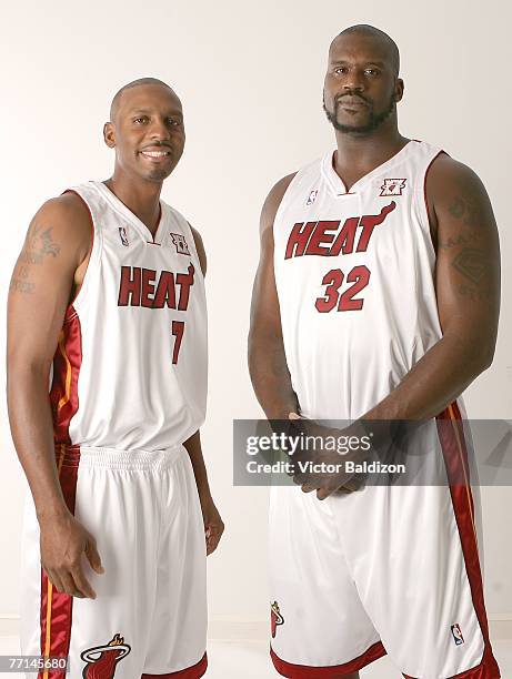
M 68 675 L 44 670 L 38 679 L 202 677 L 205 541 L 187 450 L 58 446 L 57 458 L 68 507 L 94 536 L 104 572 L 96 574 L 83 557 L 97 598 L 57 591 L 41 568 L 28 498 L 21 652 L 69 657 Z

